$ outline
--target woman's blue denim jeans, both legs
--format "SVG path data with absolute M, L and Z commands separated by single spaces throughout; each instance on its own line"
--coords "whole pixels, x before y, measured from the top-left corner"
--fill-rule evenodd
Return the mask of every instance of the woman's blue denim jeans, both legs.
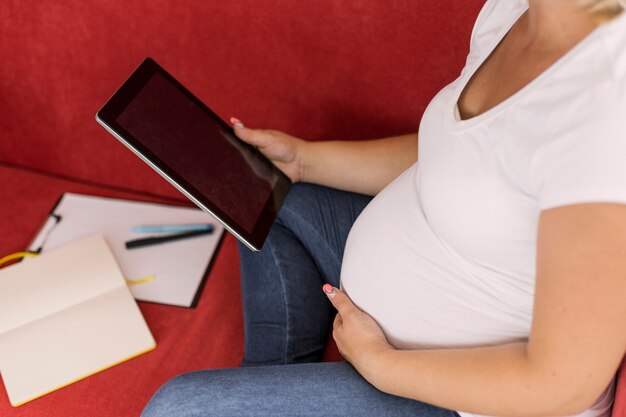
M 348 233 L 370 200 L 295 184 L 263 250 L 239 247 L 244 368 L 174 378 L 154 395 L 142 417 L 458 417 L 382 393 L 348 363 L 305 363 L 322 358 L 335 315 L 322 285 L 339 285 Z M 288 365 L 267 366 L 278 364 Z

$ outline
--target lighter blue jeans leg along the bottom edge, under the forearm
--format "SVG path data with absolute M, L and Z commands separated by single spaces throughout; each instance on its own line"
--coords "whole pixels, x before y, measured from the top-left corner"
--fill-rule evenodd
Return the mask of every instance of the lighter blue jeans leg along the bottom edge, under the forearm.
M 217 369 L 181 375 L 141 417 L 458 417 L 384 394 L 345 362 Z

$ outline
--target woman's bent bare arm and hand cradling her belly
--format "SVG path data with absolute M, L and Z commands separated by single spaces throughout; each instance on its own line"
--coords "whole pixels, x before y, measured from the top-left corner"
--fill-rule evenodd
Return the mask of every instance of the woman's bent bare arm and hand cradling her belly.
M 391 394 L 487 415 L 575 414 L 608 386 L 626 348 L 626 205 L 544 211 L 536 281 L 528 342 L 398 351 L 339 290 L 334 336 L 359 372 Z

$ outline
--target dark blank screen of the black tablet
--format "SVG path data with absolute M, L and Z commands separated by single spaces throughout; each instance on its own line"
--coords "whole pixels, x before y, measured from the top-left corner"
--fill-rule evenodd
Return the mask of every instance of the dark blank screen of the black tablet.
M 252 233 L 279 176 L 155 72 L 116 119 L 121 128 Z

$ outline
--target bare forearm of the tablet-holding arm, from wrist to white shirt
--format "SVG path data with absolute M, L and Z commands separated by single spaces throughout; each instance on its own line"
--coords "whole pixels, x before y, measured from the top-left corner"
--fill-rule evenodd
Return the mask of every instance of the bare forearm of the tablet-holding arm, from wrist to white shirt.
M 417 134 L 367 141 L 308 142 L 301 180 L 375 195 L 417 161 Z

